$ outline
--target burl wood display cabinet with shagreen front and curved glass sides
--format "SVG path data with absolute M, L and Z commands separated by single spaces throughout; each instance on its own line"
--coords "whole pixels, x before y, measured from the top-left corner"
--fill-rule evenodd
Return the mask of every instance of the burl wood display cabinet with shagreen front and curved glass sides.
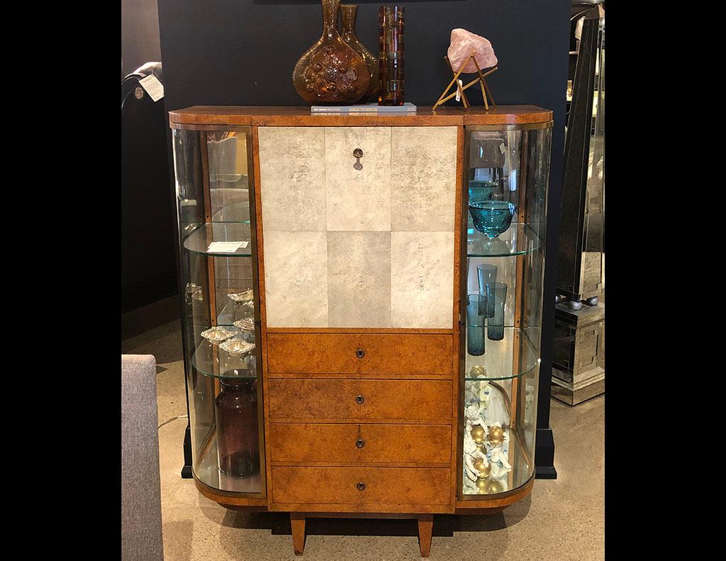
M 414 518 L 424 557 L 433 514 L 527 496 L 552 112 L 170 123 L 199 491 L 296 554 L 306 517 Z

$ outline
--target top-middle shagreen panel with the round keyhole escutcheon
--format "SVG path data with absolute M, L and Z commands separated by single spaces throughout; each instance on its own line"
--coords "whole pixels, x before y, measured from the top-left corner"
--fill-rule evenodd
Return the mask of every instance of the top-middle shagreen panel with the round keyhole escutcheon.
M 328 231 L 391 230 L 390 127 L 326 126 L 325 189 Z

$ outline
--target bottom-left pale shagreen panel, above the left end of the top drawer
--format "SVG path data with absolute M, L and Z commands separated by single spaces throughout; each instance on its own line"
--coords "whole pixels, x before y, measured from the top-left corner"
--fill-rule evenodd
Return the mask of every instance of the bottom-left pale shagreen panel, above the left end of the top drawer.
M 265 232 L 269 327 L 327 327 L 325 232 Z

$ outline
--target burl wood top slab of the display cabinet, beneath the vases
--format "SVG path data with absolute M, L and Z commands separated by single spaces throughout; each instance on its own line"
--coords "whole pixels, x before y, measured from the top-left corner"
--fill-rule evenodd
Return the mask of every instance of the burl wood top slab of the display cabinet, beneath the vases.
M 169 111 L 173 129 L 205 125 L 229 126 L 456 126 L 542 124 L 552 121 L 552 111 L 537 105 L 484 107 L 419 107 L 414 114 L 357 113 L 311 115 L 310 108 L 280 106 L 195 105 Z

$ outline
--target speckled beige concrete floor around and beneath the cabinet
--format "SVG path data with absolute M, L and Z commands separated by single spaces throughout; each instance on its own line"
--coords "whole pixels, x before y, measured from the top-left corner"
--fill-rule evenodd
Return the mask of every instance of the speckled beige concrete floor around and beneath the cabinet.
M 158 365 L 159 424 L 187 413 L 179 323 L 127 339 L 122 350 Z M 552 400 L 557 480 L 537 480 L 527 499 L 489 517 L 437 515 L 431 561 L 601 560 L 605 557 L 605 396 L 576 407 Z M 293 560 L 287 514 L 224 509 L 180 477 L 187 419 L 159 429 L 164 557 Z M 303 560 L 420 560 L 413 520 L 307 522 Z

